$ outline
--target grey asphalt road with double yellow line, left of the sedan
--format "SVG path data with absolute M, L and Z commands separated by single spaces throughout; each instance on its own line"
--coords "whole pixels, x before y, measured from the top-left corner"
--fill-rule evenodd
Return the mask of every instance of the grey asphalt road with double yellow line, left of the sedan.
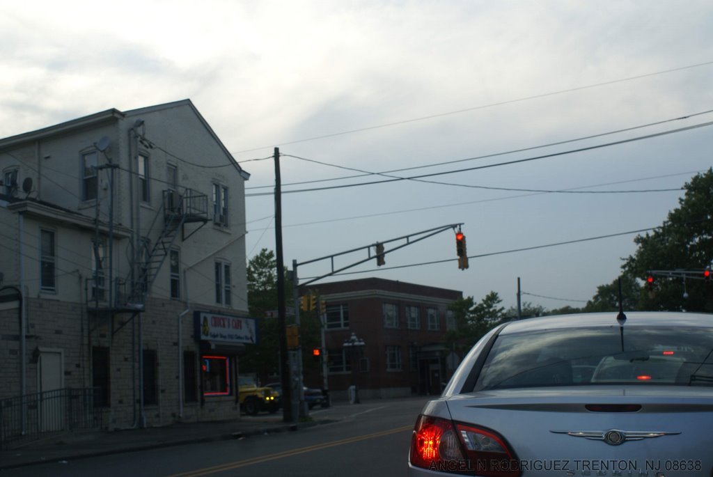
M 3 471 L 2 476 L 405 476 L 416 416 L 425 398 L 314 409 L 331 424 L 150 451 Z

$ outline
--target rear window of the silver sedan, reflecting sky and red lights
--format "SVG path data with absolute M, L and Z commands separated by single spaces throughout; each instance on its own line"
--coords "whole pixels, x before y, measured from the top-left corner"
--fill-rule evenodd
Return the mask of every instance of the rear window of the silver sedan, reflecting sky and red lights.
M 597 384 L 713 385 L 713 329 L 566 328 L 501 334 L 474 390 Z

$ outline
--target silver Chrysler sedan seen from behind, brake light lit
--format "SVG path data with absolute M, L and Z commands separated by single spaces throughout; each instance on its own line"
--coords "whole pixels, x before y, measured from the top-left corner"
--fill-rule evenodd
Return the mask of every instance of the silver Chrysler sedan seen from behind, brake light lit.
M 712 476 L 713 315 L 496 327 L 416 420 L 409 475 L 447 473 Z

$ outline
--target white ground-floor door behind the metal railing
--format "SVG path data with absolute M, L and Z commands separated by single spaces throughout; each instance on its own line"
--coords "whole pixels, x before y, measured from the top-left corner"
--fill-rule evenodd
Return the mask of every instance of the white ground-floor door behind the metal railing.
M 40 351 L 38 360 L 40 429 L 43 432 L 64 429 L 65 397 L 62 389 L 62 352 Z

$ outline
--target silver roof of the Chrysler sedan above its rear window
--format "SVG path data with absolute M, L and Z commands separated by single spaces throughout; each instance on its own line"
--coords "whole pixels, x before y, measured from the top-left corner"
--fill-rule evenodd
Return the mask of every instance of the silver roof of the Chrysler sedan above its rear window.
M 687 312 L 625 312 L 624 327 L 713 327 L 713 314 Z M 500 334 L 548 329 L 618 327 L 617 312 L 558 314 L 520 319 L 503 325 Z

